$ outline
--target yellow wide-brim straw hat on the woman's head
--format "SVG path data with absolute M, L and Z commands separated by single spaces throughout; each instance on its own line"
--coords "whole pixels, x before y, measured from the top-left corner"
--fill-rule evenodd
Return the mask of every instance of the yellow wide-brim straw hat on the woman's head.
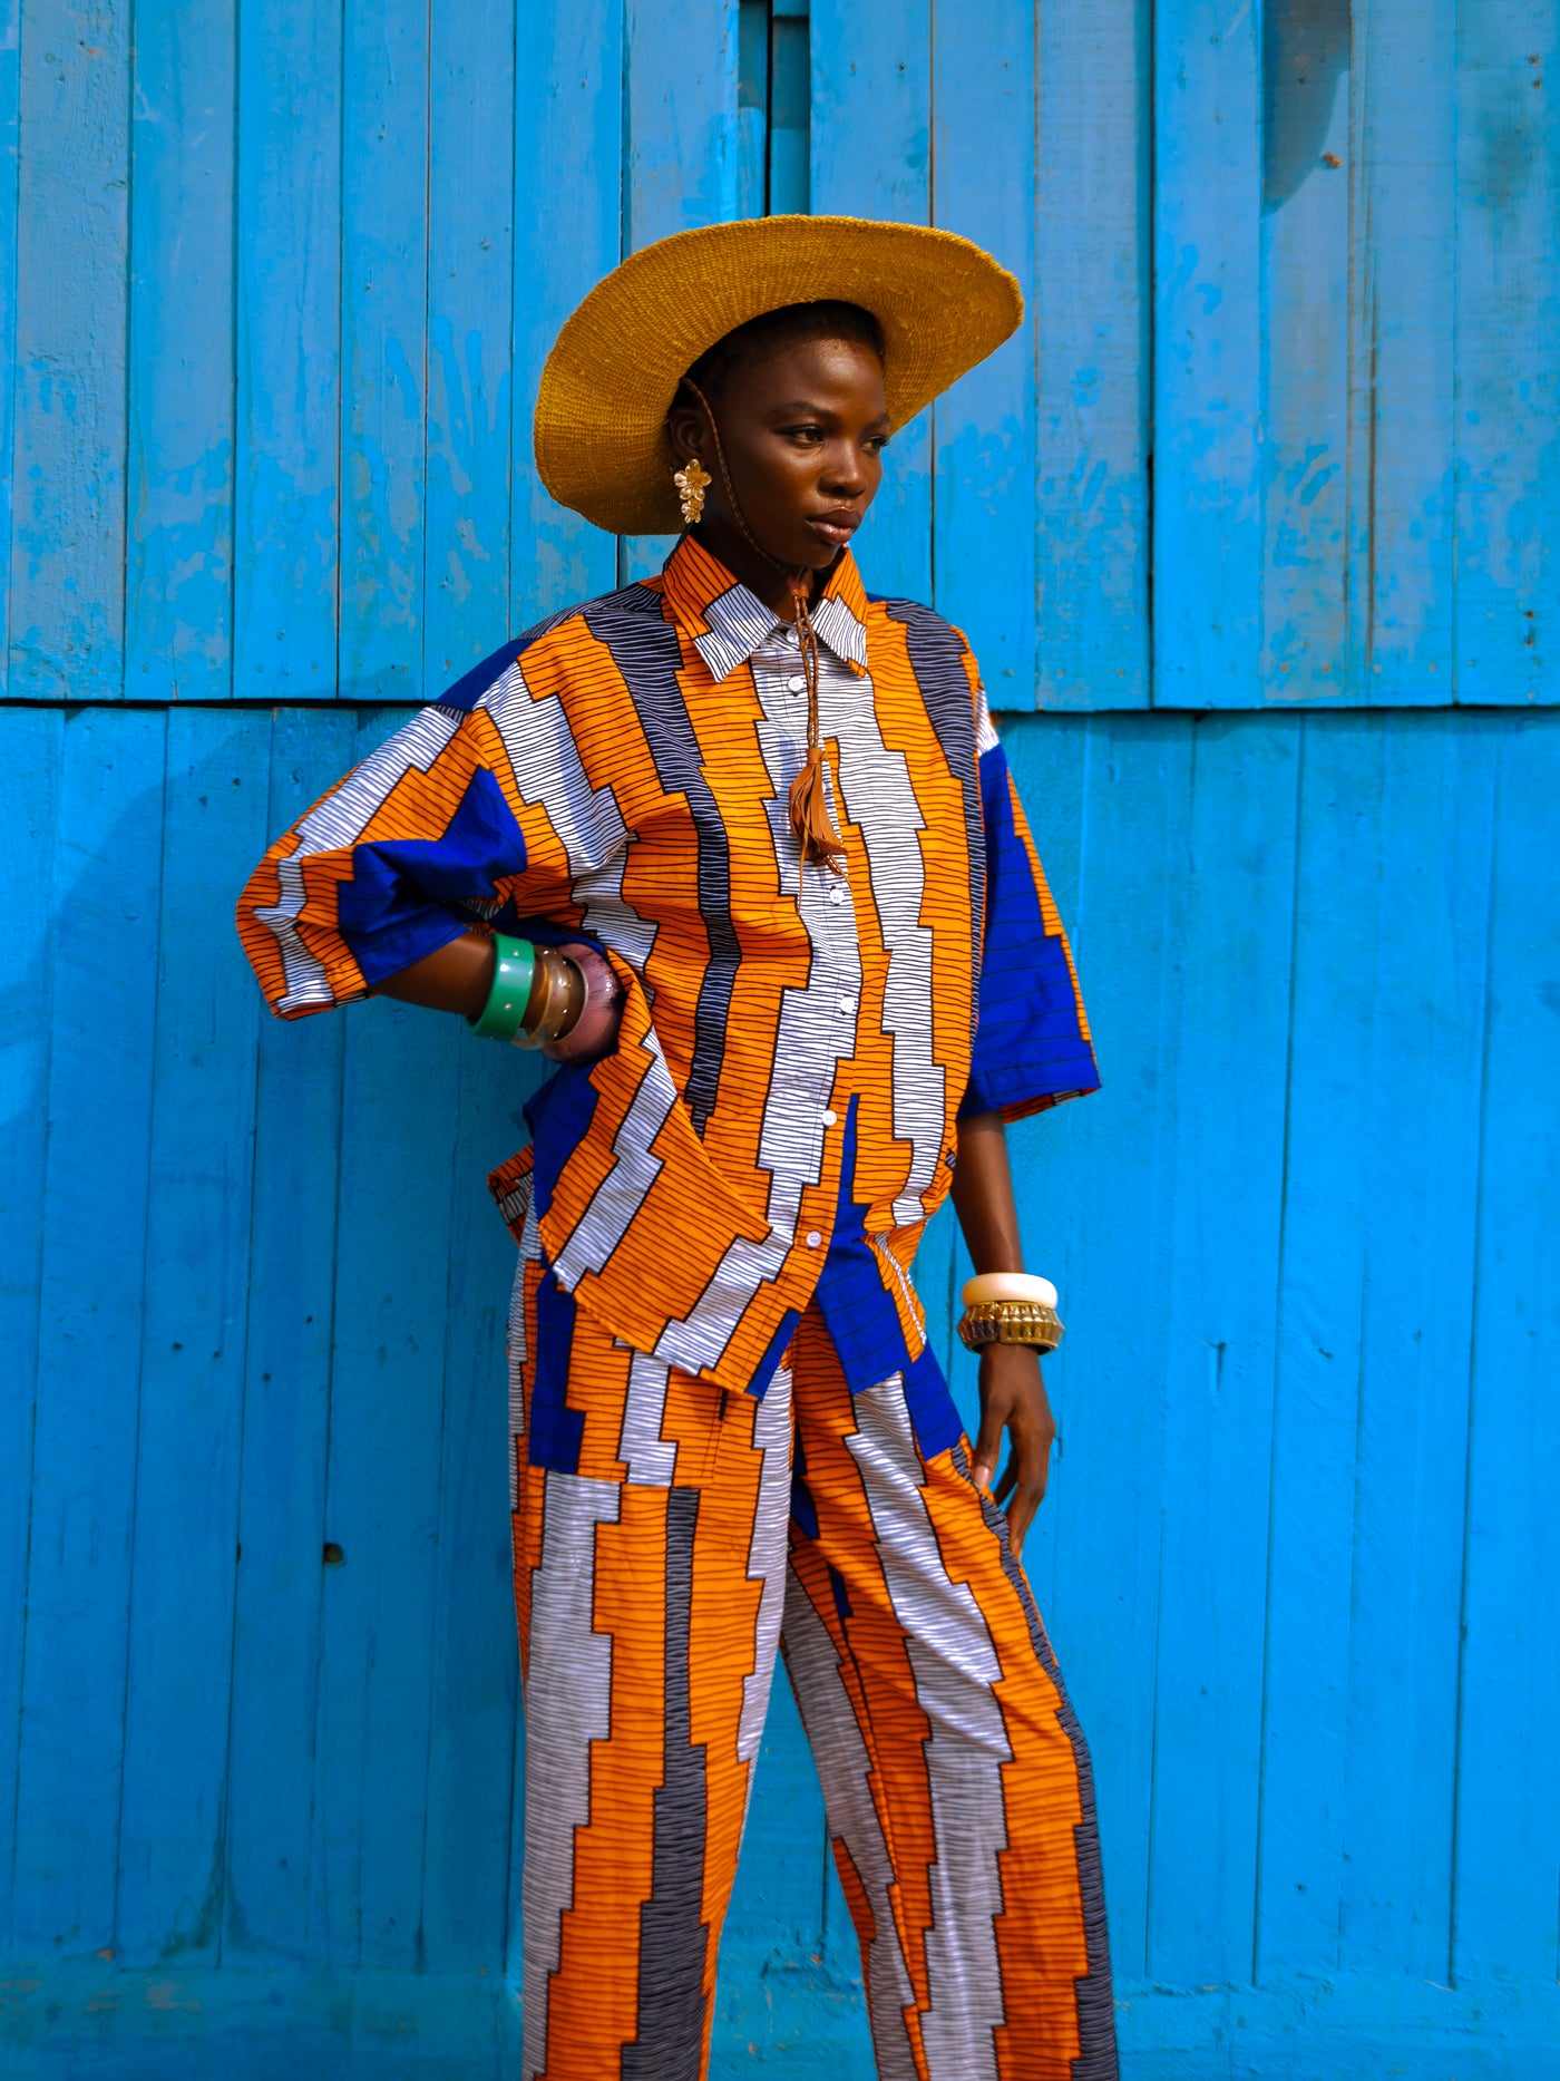
M 562 506 L 612 535 L 682 526 L 666 437 L 678 381 L 734 327 L 838 298 L 882 327 L 894 429 L 1023 318 L 1019 285 L 953 231 L 863 216 L 749 216 L 678 231 L 591 289 L 537 393 L 537 468 Z

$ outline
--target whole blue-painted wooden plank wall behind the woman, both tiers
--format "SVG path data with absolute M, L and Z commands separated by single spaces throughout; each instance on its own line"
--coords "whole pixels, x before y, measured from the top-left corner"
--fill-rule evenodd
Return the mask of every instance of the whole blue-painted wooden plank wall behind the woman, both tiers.
M 397 703 L 659 558 L 541 493 L 537 370 L 622 250 L 763 208 L 951 225 L 1030 293 L 861 556 L 984 658 L 1100 1038 L 1017 1149 L 1127 2071 L 1560 2071 L 1556 42 L 1537 0 L 0 10 L 8 2075 L 514 2066 L 483 1172 L 526 1072 L 262 1020 L 231 899 Z M 967 1394 L 955 1282 L 942 1222 Z M 861 2044 L 780 1698 L 716 2066 Z

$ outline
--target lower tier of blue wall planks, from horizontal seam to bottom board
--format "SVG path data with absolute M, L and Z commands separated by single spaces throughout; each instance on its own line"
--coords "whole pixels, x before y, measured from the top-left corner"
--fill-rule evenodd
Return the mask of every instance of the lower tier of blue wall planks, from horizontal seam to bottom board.
M 387 726 L 6 718 L 33 924 L 6 993 L 0 1956 L 44 1987 L 108 1950 L 181 1985 L 512 1954 L 512 1247 L 483 1172 L 526 1070 L 389 1003 L 262 1020 L 229 930 L 260 834 Z M 1019 1163 L 1069 1321 L 1030 1567 L 1096 1750 L 1123 1987 L 1281 2008 L 1337 1981 L 1354 2029 L 1364 1983 L 1539 2000 L 1560 722 L 1007 739 L 1107 1078 Z M 921 1284 L 967 1394 L 957 1276 L 942 1222 Z M 817 2029 L 838 1998 L 811 1983 L 849 1979 L 788 1704 L 728 1948 L 732 2041 L 774 2000 L 763 2031 Z

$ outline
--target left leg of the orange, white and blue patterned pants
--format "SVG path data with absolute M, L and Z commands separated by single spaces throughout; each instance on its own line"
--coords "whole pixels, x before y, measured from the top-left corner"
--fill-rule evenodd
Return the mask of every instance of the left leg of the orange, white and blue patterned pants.
M 541 1265 L 512 1315 L 526 2081 L 701 2081 L 784 1602 L 790 1373 L 630 1353 Z

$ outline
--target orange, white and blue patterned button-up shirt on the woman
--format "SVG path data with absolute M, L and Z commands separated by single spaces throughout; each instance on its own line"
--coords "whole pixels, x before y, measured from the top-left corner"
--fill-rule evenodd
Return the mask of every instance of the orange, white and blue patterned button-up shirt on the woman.
M 863 1253 L 913 1357 L 903 1274 L 959 1111 L 1015 1120 L 1098 1084 L 969 645 L 867 597 L 849 554 L 813 626 L 840 876 L 803 868 L 786 814 L 795 631 L 684 537 L 659 579 L 553 616 L 406 722 L 239 903 L 283 1018 L 474 922 L 599 945 L 618 1047 L 557 1070 L 493 1188 L 616 1336 L 753 1392 L 826 1261 L 838 1296 Z

